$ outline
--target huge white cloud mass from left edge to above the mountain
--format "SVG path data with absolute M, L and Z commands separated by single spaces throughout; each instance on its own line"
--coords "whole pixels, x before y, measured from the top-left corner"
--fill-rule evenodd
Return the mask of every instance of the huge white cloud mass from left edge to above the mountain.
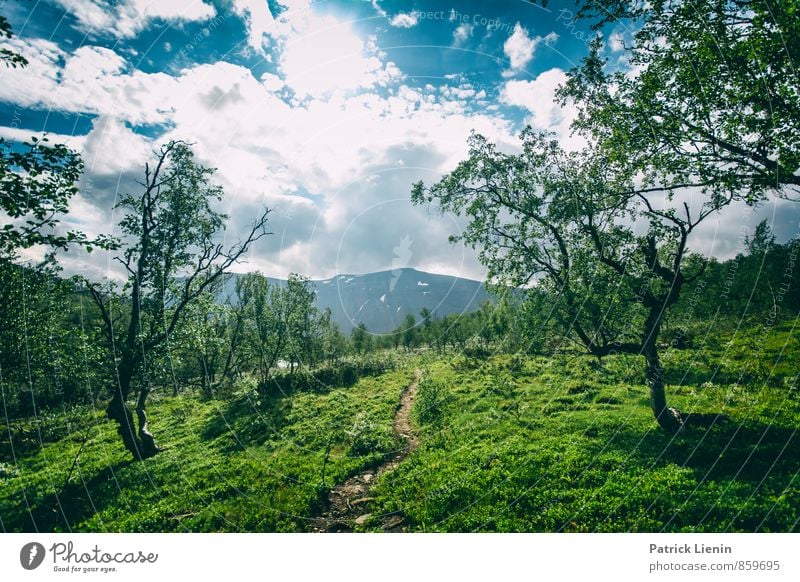
M 395 239 L 407 236 L 417 241 L 413 266 L 480 278 L 474 255 L 446 243 L 455 223 L 411 207 L 409 189 L 452 169 L 466 154 L 472 129 L 514 141 L 508 123 L 470 111 L 465 99 L 482 99 L 484 92 L 464 83 L 446 91 L 405 86 L 374 41 L 332 20 L 316 22 L 327 26 L 309 33 L 317 39 L 311 44 L 338 40 L 343 52 L 325 55 L 298 45 L 293 53 L 290 36 L 280 75 L 260 78 L 226 62 L 175 75 L 144 73 L 109 49 L 84 46 L 69 55 L 47 41 L 31 41 L 24 46 L 32 59 L 26 72 L 38 73 L 3 84 L 0 98 L 98 116 L 89 134 L 74 142 L 86 161 L 75 209 L 87 232 L 109 231 L 118 193 L 135 191 L 153 148 L 179 138 L 196 144 L 199 161 L 218 168 L 215 179 L 226 192 L 222 210 L 231 217 L 228 236 L 235 238 L 260 207 L 275 209 L 275 234 L 240 269 L 315 277 L 366 272 L 386 268 Z M 346 63 L 338 65 L 337 86 L 324 77 L 305 80 L 319 65 L 315 59 L 326 57 L 334 58 L 325 62 L 328 70 L 337 67 L 336 58 Z M 375 91 L 378 86 L 383 90 Z M 304 101 L 287 98 L 286 90 Z M 137 123 L 159 123 L 166 131 L 150 141 L 132 129 Z M 102 270 L 100 254 L 85 260 Z

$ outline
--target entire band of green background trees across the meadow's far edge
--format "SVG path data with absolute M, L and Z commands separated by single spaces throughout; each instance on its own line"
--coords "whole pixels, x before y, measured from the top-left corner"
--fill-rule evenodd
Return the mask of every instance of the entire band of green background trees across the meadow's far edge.
M 732 259 L 695 256 L 703 275 L 673 308 L 663 341 L 689 347 L 709 322 L 747 327 L 796 317 L 798 255 L 800 239 L 776 243 L 762 223 Z M 232 291 L 226 294 L 226 287 Z M 311 281 L 299 275 L 282 284 L 259 273 L 226 275 L 192 304 L 169 342 L 148 353 L 142 381 L 172 394 L 194 388 L 213 397 L 245 380 L 262 389 L 291 384 L 292 377 L 306 381 L 299 375 L 345 369 L 353 366 L 348 358 L 386 350 L 483 357 L 498 351 L 546 354 L 572 345 L 554 332 L 559 298 L 536 287 L 470 313 L 439 317 L 423 309 L 390 333 L 360 324 L 349 336 L 330 310 L 315 306 L 315 298 Z M 126 301 L 118 295 L 111 303 L 122 307 Z M 101 314 L 79 279 L 61 277 L 52 261 L 22 266 L 0 260 L 0 386 L 9 415 L 107 398 L 116 374 L 108 343 Z M 320 381 L 331 374 L 323 372 Z M 354 378 L 358 371 L 347 374 Z

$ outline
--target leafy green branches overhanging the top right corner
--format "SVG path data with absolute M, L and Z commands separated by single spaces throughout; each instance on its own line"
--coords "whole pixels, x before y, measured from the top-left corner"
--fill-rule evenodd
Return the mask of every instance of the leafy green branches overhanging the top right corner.
M 796 2 L 592 0 L 581 14 L 632 31 L 616 71 L 599 37 L 559 92 L 616 172 L 750 203 L 798 193 Z

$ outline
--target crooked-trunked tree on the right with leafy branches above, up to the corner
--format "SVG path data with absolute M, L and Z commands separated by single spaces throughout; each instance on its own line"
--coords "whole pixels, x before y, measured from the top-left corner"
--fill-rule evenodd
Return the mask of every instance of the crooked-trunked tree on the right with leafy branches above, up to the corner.
M 550 290 L 565 341 L 643 355 L 653 413 L 676 432 L 685 418 L 666 404 L 658 339 L 702 273 L 691 234 L 734 201 L 800 186 L 800 20 L 793 3 L 762 0 L 611 0 L 581 13 L 636 29 L 622 71 L 609 71 L 599 37 L 557 92 L 576 104 L 587 146 L 567 152 L 529 128 L 504 153 L 473 135 L 467 159 L 416 184 L 412 201 L 465 216 L 451 240 L 479 249 L 496 282 Z

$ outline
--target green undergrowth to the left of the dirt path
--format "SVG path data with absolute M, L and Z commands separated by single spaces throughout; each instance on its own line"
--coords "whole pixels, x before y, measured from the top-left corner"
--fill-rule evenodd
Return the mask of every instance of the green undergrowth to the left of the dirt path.
M 49 427 L 70 425 L 0 465 L 2 528 L 303 531 L 333 484 L 396 450 L 391 423 L 410 379 L 395 371 L 268 401 L 255 390 L 232 401 L 162 398 L 150 425 L 165 450 L 144 462 L 129 459 L 102 412 L 54 415 Z

